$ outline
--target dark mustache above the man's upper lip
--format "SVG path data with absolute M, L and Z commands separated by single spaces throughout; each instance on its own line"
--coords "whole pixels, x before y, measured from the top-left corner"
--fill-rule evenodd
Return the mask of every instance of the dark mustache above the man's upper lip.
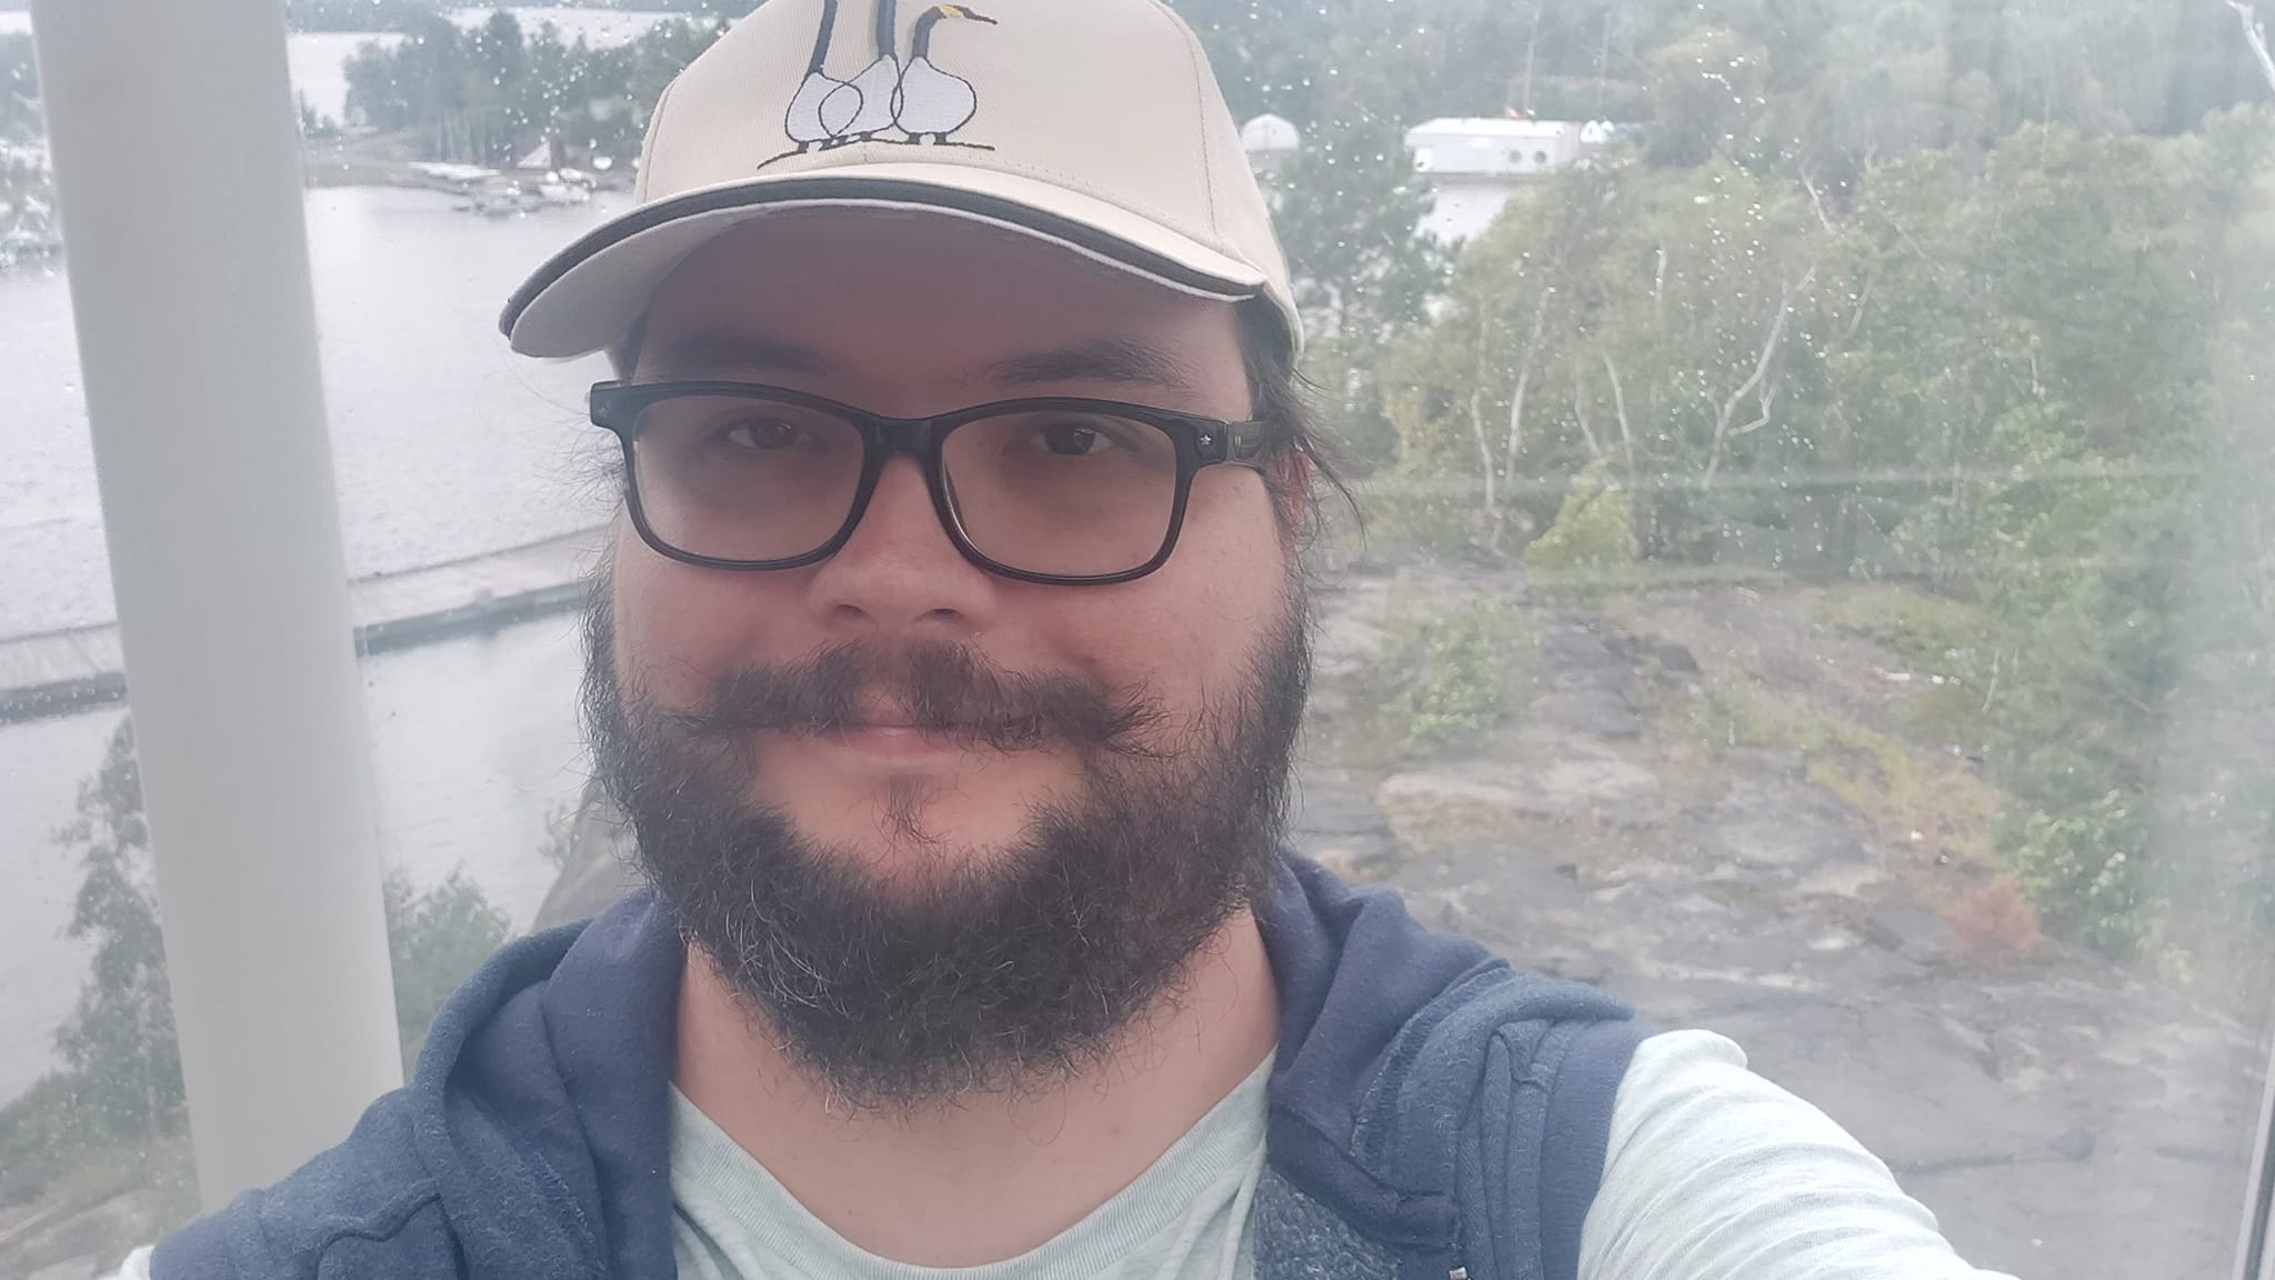
M 1008 672 L 962 645 L 842 642 L 799 663 L 730 672 L 676 720 L 698 736 L 842 733 L 874 724 L 878 704 L 894 724 L 999 752 L 1065 742 L 1151 756 L 1140 740 L 1165 717 L 1153 699 L 1076 674 Z

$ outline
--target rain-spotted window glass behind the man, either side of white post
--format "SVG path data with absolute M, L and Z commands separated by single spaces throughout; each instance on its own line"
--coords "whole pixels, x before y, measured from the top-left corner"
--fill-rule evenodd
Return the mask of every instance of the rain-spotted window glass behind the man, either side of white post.
M 0 1275 L 91 1275 L 196 1191 L 9 2 Z M 1294 845 L 1729 1034 L 1977 1266 L 2230 1275 L 2275 1009 L 2275 5 L 1172 7 L 1365 512 L 1326 494 L 1308 551 Z M 739 9 L 287 5 L 407 1050 L 623 886 L 576 722 L 607 369 L 494 321 Z

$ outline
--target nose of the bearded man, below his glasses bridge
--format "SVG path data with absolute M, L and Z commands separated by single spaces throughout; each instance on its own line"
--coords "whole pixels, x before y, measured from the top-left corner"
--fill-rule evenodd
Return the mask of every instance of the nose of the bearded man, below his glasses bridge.
M 901 456 L 885 462 L 846 544 L 817 565 L 810 599 L 833 626 L 960 638 L 983 624 L 996 590 L 999 581 L 956 549 L 924 469 Z

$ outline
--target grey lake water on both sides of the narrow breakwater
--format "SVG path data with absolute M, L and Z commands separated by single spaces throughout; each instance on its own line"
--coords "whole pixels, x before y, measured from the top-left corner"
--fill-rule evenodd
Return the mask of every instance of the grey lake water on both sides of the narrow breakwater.
M 598 360 L 539 364 L 496 333 L 505 294 L 610 203 L 489 221 L 446 196 L 307 194 L 341 528 L 355 574 L 512 547 L 603 519 L 578 410 Z M 111 617 L 71 296 L 0 273 L 0 635 Z M 582 786 L 576 622 L 555 617 L 364 663 L 382 850 L 421 884 L 453 865 L 528 925 L 546 815 Z M 84 954 L 64 941 L 71 820 L 118 708 L 0 724 L 0 1100 L 50 1061 Z

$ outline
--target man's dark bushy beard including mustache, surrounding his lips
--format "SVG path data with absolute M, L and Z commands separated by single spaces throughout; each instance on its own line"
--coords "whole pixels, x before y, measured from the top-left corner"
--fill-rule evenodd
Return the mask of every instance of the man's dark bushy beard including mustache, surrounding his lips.
M 585 715 L 682 938 L 844 1105 L 905 1109 L 1040 1089 L 1101 1061 L 1267 891 L 1310 674 L 1306 629 L 1292 588 L 1238 692 L 1167 736 L 1144 699 L 999 672 L 942 645 L 826 649 L 733 672 L 701 708 L 669 711 L 617 676 L 603 565 Z M 1072 747 L 1083 783 L 1033 809 L 1008 850 L 942 847 L 915 884 L 878 884 L 860 850 L 746 802 L 758 733 L 851 724 L 864 690 L 976 745 Z M 880 829 L 928 838 L 921 799 L 885 790 Z

